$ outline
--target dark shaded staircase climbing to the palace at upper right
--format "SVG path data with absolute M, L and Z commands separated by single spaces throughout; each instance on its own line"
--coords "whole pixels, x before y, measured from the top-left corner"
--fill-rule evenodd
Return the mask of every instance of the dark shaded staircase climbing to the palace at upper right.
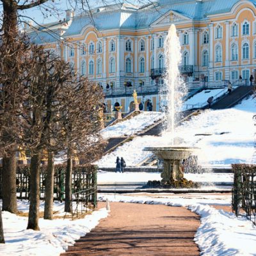
M 239 86 L 230 94 L 225 94 L 220 100 L 214 102 L 211 109 L 232 108 L 239 101 L 243 100 L 247 95 L 253 92 L 253 86 Z

